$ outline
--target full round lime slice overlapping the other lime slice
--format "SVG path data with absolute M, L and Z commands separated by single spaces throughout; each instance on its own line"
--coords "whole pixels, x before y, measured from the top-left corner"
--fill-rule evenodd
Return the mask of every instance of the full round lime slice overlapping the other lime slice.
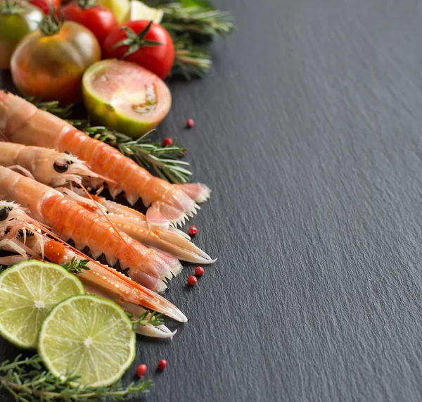
M 53 375 L 78 375 L 84 386 L 103 387 L 120 379 L 134 360 L 135 332 L 112 301 L 72 296 L 44 320 L 38 351 Z

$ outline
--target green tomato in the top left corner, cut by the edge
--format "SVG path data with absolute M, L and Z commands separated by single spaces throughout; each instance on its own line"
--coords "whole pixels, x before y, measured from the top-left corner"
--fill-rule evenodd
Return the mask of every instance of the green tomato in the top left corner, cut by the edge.
M 20 39 L 37 30 L 44 14 L 27 1 L 0 0 L 0 68 L 11 68 Z

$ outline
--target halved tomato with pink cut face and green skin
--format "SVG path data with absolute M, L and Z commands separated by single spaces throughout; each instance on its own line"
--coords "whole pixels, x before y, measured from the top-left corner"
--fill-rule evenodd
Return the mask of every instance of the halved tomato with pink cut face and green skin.
M 152 130 L 172 106 L 170 90 L 160 77 L 115 59 L 98 61 L 85 71 L 82 97 L 92 122 L 132 137 Z

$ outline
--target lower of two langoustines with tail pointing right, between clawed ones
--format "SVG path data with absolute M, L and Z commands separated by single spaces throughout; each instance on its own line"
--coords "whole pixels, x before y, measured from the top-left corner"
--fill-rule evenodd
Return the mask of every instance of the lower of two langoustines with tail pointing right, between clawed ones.
M 129 277 L 149 289 L 165 291 L 166 279 L 181 270 L 177 258 L 146 248 L 59 191 L 3 167 L 0 167 L 0 199 L 28 208 L 32 218 L 49 225 L 63 240 L 72 238 L 77 249 L 88 246 L 94 258 L 104 253 L 110 265 L 119 260 L 122 269 L 129 268 Z

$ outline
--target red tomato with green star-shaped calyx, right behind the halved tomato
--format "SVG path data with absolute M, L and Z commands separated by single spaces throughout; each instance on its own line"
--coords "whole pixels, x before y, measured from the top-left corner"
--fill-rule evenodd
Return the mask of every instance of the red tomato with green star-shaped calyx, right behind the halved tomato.
M 125 61 L 132 61 L 137 63 L 144 68 L 152 71 L 158 77 L 165 78 L 169 75 L 172 70 L 174 62 L 174 44 L 172 37 L 161 25 L 151 23 L 146 34 L 139 35 L 143 30 L 148 27 L 151 21 L 138 20 L 129 21 L 115 27 L 106 37 L 103 42 L 103 54 L 106 58 L 120 58 Z M 134 53 L 125 56 L 129 51 L 129 45 L 124 44 L 122 46 L 116 46 L 123 39 L 127 39 L 127 30 L 132 30 L 135 35 L 129 34 L 129 37 L 133 36 L 133 44 L 139 46 L 139 49 Z M 131 32 L 131 33 L 132 33 Z M 160 44 L 151 46 L 148 42 L 158 42 Z

